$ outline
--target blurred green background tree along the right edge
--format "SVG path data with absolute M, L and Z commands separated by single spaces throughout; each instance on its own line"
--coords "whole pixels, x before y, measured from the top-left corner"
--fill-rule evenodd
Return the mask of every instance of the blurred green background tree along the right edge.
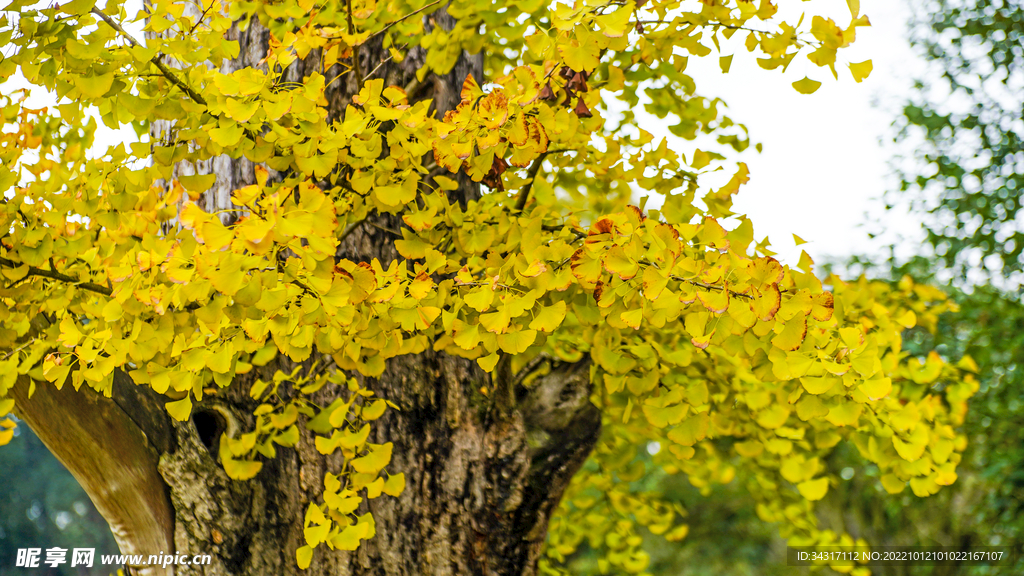
M 939 496 L 937 508 L 951 513 L 934 518 L 922 505 L 903 502 L 898 513 L 881 515 L 890 519 L 882 526 L 908 540 L 946 538 L 1020 550 L 1024 4 L 939 0 L 922 3 L 913 13 L 911 41 L 930 68 L 896 123 L 897 143 L 914 153 L 899 164 L 900 188 L 887 200 L 909 203 L 922 214 L 931 254 L 940 257 L 893 258 L 890 274 L 925 282 L 942 278 L 961 287 L 952 291 L 959 312 L 945 317 L 934 335 L 912 334 L 908 347 L 919 355 L 970 354 L 982 377 L 965 423 L 971 440 L 965 482 Z M 922 520 L 906 522 L 908 517 Z M 962 573 L 1022 569 L 1018 563 L 996 572 L 965 567 Z

